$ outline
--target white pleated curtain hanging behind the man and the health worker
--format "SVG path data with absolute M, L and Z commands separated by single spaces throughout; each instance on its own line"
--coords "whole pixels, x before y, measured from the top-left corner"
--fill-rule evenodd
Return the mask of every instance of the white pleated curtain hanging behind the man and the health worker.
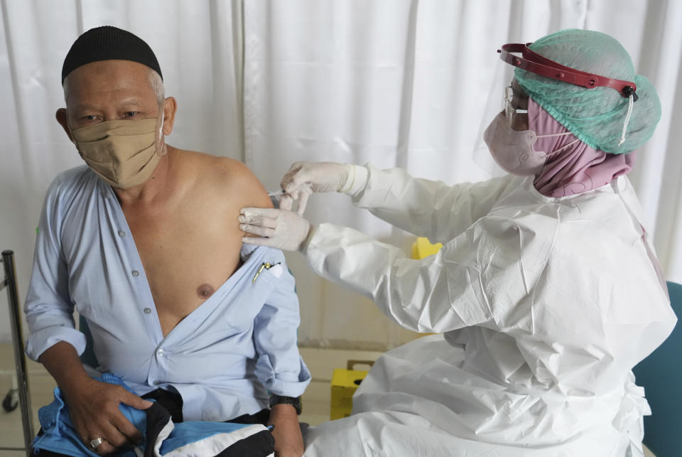
M 26 290 L 43 193 L 80 163 L 53 120 L 60 68 L 87 28 L 113 24 L 155 50 L 180 109 L 176 146 L 244 158 L 270 190 L 293 161 L 401 166 L 448 183 L 487 177 L 472 149 L 497 48 L 561 28 L 615 36 L 659 92 L 663 116 L 630 177 L 669 279 L 682 282 L 682 2 L 658 0 L 1 0 L 0 249 Z M 243 59 L 243 60 L 242 60 Z M 501 89 L 500 89 L 501 92 Z M 676 128 L 677 127 L 677 128 Z M 242 156 L 243 154 L 243 156 Z M 408 247 L 412 237 L 315 195 L 308 217 Z M 302 345 L 383 350 L 414 337 L 288 255 Z M 644 303 L 643 303 L 644 304 Z M 4 322 L 4 310 L 0 322 Z M 9 331 L 0 324 L 0 338 Z

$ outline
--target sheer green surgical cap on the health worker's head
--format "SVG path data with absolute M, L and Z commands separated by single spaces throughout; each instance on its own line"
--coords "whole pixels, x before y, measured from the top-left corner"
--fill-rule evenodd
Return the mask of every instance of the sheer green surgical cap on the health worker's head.
M 634 81 L 639 99 L 632 105 L 625 141 L 618 144 L 629 100 L 610 87 L 586 89 L 516 68 L 514 77 L 526 93 L 588 146 L 612 154 L 639 148 L 654 134 L 661 102 L 651 82 L 635 75 L 629 54 L 605 33 L 567 29 L 532 43 L 534 52 L 576 70 Z

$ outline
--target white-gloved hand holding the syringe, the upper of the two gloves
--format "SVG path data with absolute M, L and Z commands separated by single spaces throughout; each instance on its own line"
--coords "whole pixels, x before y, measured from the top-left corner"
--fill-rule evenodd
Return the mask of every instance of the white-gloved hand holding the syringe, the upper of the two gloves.
M 279 202 L 283 210 L 291 210 L 298 200 L 298 214 L 302 215 L 313 192 L 359 192 L 367 184 L 367 168 L 351 163 L 296 162 L 282 178 L 286 192 Z

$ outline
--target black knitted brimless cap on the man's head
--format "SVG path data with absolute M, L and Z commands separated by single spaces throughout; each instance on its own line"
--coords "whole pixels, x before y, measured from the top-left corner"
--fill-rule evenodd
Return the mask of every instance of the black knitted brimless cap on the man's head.
M 62 84 L 70 72 L 98 60 L 132 60 L 156 71 L 161 80 L 161 68 L 153 50 L 142 38 L 112 26 L 91 28 L 74 41 L 62 67 Z

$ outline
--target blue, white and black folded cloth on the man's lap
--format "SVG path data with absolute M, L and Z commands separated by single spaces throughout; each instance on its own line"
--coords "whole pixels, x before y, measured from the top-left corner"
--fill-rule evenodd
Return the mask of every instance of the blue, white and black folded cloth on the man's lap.
M 100 382 L 121 385 L 131 391 L 117 376 L 105 373 Z M 132 391 L 131 391 L 132 392 Z M 269 456 L 274 452 L 274 438 L 261 424 L 188 421 L 173 424 L 171 414 L 158 402 L 142 411 L 120 404 L 126 419 L 144 436 L 144 444 L 134 449 L 112 454 L 116 457 L 179 457 L 179 456 Z M 55 400 L 38 411 L 43 435 L 33 441 L 34 449 L 45 449 L 68 456 L 92 456 L 92 452 L 72 426 L 69 409 L 59 387 Z

